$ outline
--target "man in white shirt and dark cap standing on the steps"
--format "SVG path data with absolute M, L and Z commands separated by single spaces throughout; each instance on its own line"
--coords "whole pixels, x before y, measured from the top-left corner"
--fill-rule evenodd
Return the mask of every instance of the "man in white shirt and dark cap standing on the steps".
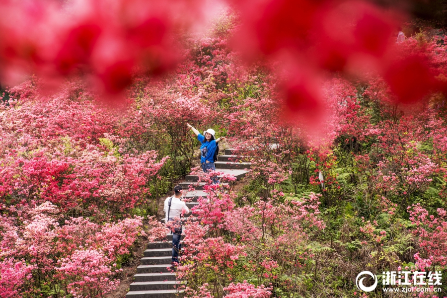
M 165 223 L 169 221 L 178 221 L 180 227 L 176 227 L 172 233 L 172 262 L 171 266 L 176 266 L 179 264 L 178 252 L 180 251 L 180 238 L 182 237 L 182 226 L 179 221 L 180 216 L 184 214 L 189 214 L 189 209 L 186 207 L 185 202 L 181 200 L 183 187 L 177 185 L 174 187 L 174 196 L 166 198 L 164 201 L 163 211 L 166 213 Z M 171 201 L 171 206 L 169 207 L 169 201 Z M 169 218 L 168 218 L 169 214 Z

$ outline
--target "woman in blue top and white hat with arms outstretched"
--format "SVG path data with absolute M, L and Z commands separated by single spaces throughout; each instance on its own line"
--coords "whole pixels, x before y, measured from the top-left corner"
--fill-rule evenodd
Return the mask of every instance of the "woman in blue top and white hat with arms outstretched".
M 200 146 L 200 152 L 202 153 L 200 157 L 202 170 L 205 173 L 209 171 L 215 171 L 216 166 L 214 165 L 214 152 L 216 151 L 217 143 L 219 143 L 221 140 L 225 140 L 225 137 L 220 137 L 216 140 L 216 132 L 211 128 L 204 132 L 204 136 L 191 125 L 187 124 L 187 126 L 192 129 L 192 131 L 197 136 L 197 140 L 202 143 L 202 145 Z M 219 180 L 216 177 L 213 177 L 212 179 L 215 184 L 219 184 Z

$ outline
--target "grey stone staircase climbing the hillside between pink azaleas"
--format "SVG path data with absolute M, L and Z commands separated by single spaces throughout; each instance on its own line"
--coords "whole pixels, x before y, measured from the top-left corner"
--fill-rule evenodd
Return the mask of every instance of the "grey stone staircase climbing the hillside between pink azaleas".
M 225 149 L 224 153 L 224 155 L 219 155 L 219 161 L 215 162 L 216 171 L 230 173 L 237 180 L 243 178 L 251 164 L 248 162 L 236 162 L 237 155 L 233 154 L 233 149 Z M 199 179 L 197 175 L 187 175 L 185 178 L 185 182 L 179 183 L 184 189 L 188 189 L 190 184 L 197 182 Z M 207 194 L 203 191 L 203 185 L 205 183 L 199 183 L 195 187 L 196 190 L 194 192 L 188 192 L 184 196 L 185 198 L 192 199 L 191 202 L 186 203 L 190 210 L 199 204 L 197 202 L 199 197 L 206 197 Z M 192 212 L 186 217 L 191 214 Z M 162 222 L 164 222 L 164 219 Z M 182 238 L 184 234 L 185 229 L 183 229 Z M 166 235 L 166 239 L 166 242 L 148 243 L 144 256 L 140 261 L 141 265 L 137 267 L 137 274 L 134 275 L 134 282 L 130 285 L 130 292 L 126 294 L 126 298 L 177 297 L 178 291 L 174 287 L 181 284 L 182 281 L 177 281 L 175 273 L 170 269 L 172 235 L 169 232 Z M 181 253 L 179 257 L 181 259 Z

